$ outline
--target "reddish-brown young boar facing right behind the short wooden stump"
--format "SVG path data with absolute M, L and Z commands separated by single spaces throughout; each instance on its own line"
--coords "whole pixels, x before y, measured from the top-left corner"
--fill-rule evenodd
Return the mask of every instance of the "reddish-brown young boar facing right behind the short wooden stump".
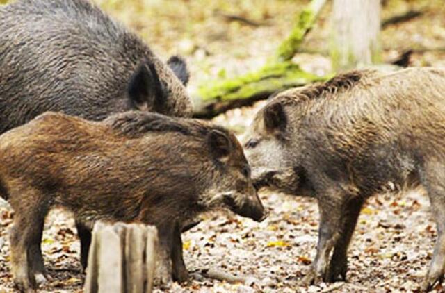
M 180 229 L 190 219 L 216 208 L 265 217 L 236 137 L 193 119 L 126 112 L 88 122 L 49 112 L 0 136 L 0 162 L 0 195 L 15 210 L 11 265 L 24 289 L 46 274 L 40 242 L 53 206 L 83 221 L 155 225 L 163 282 L 170 271 L 188 276 Z

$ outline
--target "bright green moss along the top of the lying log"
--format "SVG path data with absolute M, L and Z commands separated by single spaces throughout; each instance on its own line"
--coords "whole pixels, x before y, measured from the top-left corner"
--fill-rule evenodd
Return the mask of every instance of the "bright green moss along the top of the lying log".
M 229 101 L 321 80 L 324 78 L 304 72 L 292 62 L 279 62 L 266 65 L 257 72 L 202 86 L 198 94 L 204 101 Z

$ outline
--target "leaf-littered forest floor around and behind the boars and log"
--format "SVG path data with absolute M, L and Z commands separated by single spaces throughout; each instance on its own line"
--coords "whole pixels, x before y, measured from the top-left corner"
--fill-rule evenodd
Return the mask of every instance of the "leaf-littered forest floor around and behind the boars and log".
M 121 22 L 136 30 L 163 58 L 180 53 L 191 67 L 190 92 L 218 78 L 261 67 L 289 32 L 307 1 L 296 0 L 96 0 Z M 412 65 L 445 66 L 445 7 L 442 1 L 387 0 L 382 19 L 407 10 L 422 11 L 409 22 L 382 30 L 383 60 L 414 49 Z M 222 13 L 225 12 L 225 13 Z M 315 74 L 331 71 L 327 58 L 329 12 L 326 7 L 294 58 Z M 231 20 L 227 14 L 255 24 Z M 225 16 L 223 16 L 225 15 Z M 304 51 L 304 52 L 303 52 Z M 264 106 L 231 110 L 213 119 L 242 135 L 254 113 Z M 261 192 L 270 217 L 258 224 L 226 212 L 205 216 L 184 233 L 184 258 L 191 280 L 173 283 L 168 292 L 416 292 L 426 273 L 435 242 L 435 222 L 422 190 L 373 196 L 362 210 L 349 250 L 346 283 L 298 285 L 314 258 L 318 209 L 316 201 Z M 9 269 L 8 229 L 13 211 L 0 201 L 0 293 L 14 292 Z M 74 220 L 62 210 L 45 223 L 42 250 L 53 280 L 41 292 L 82 292 L 79 241 Z M 205 278 L 215 269 L 244 276 L 245 284 Z M 438 285 L 435 290 L 442 291 Z

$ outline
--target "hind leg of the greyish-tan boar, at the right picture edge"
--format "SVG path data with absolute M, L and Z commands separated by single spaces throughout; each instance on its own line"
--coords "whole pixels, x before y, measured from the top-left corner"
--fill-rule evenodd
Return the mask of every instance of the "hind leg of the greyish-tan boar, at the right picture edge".
M 430 197 L 432 214 L 437 224 L 437 240 L 430 269 L 421 285 L 423 291 L 430 290 L 436 283 L 442 283 L 445 265 L 445 166 L 435 160 L 426 167 L 421 173 L 421 183 Z

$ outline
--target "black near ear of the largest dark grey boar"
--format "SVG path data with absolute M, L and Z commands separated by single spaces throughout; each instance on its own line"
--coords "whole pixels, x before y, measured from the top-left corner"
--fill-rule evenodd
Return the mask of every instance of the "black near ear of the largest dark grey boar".
M 141 63 L 131 76 L 127 88 L 129 99 L 139 110 L 156 110 L 165 94 L 152 62 Z

